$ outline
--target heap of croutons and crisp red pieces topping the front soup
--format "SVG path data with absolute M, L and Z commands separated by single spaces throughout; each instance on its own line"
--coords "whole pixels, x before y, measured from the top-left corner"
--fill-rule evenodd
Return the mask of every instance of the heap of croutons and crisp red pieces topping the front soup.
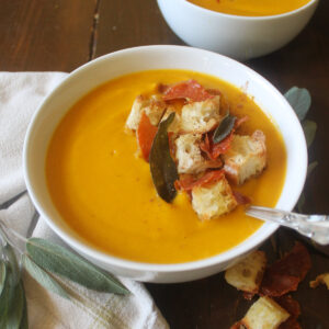
M 174 185 L 189 194 L 201 219 L 216 218 L 248 202 L 234 186 L 259 175 L 266 166 L 264 134 L 239 135 L 246 117 L 222 109 L 220 98 L 220 91 L 207 90 L 195 80 L 160 84 L 154 95 L 135 99 L 126 121 L 126 128 L 136 132 L 139 154 L 149 161 L 158 125 L 174 113 L 168 128 L 170 155 L 179 174 Z M 229 127 L 225 120 L 230 121 Z M 220 129 L 223 138 L 215 141 Z

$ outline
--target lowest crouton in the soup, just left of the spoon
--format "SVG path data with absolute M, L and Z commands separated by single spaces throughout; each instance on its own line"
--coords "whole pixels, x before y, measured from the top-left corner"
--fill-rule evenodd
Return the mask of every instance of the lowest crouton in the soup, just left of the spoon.
M 230 185 L 223 178 L 207 186 L 192 190 L 192 207 L 201 219 L 212 219 L 231 212 L 238 205 Z

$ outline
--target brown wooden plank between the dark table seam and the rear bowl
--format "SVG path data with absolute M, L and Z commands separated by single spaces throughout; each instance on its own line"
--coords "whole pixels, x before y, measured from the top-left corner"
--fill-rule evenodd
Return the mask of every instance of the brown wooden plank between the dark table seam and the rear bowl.
M 94 56 L 144 45 L 183 44 L 167 26 L 155 0 L 101 1 Z

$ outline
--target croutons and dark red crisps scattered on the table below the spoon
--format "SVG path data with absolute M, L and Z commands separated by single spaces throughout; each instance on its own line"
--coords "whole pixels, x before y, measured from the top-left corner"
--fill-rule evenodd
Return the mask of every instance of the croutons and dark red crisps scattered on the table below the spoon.
M 225 280 L 247 299 L 259 295 L 245 317 L 231 329 L 297 329 L 300 306 L 288 293 L 296 291 L 311 266 L 307 249 L 299 242 L 282 259 L 266 265 L 263 251 L 253 251 L 226 270 Z M 320 275 L 320 281 L 322 280 Z M 317 282 L 313 282 L 313 284 Z

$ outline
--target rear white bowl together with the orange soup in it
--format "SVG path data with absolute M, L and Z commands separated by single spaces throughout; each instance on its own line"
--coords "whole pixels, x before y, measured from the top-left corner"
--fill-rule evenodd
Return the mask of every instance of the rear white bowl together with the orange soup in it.
M 286 45 L 306 26 L 317 4 L 318 0 L 158 0 L 166 22 L 186 44 L 238 60 Z

